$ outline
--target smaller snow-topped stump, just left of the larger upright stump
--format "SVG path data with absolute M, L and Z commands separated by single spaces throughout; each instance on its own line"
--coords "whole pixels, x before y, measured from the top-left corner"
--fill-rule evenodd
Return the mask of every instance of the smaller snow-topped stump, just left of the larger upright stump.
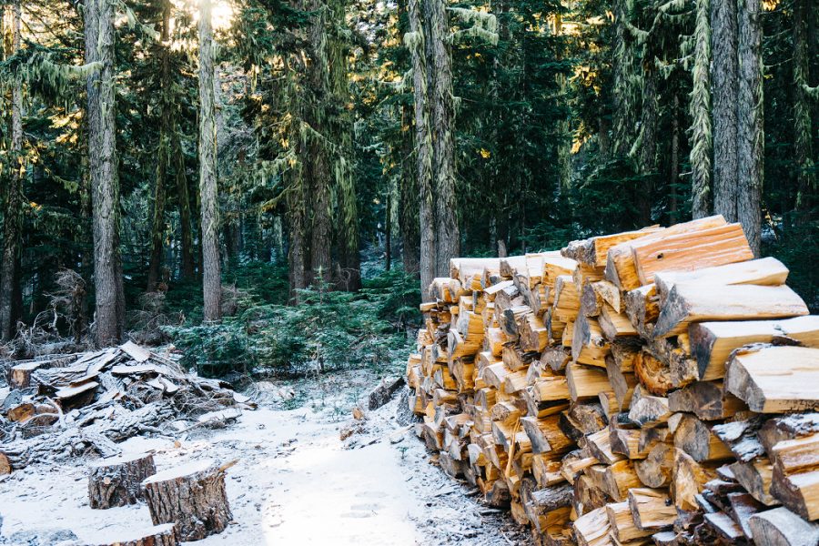
M 112 457 L 96 461 L 88 476 L 91 508 L 106 509 L 142 500 L 142 480 L 157 473 L 151 455 Z

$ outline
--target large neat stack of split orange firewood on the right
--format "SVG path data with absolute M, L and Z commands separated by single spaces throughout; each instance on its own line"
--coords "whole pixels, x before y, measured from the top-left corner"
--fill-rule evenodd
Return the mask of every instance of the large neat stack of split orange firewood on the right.
M 543 544 L 819 543 L 819 317 L 707 217 L 452 259 L 410 356 L 443 470 Z

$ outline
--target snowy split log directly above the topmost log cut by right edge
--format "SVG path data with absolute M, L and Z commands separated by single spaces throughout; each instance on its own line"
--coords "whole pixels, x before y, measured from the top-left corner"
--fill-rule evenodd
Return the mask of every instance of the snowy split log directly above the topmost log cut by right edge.
M 754 285 L 713 286 L 679 283 L 660 311 L 653 335 L 667 338 L 710 320 L 785 319 L 809 314 L 794 290 Z

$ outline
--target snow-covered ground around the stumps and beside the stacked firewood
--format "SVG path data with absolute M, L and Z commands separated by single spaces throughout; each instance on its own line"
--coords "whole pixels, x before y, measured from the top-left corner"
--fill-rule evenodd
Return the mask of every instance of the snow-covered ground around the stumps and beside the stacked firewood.
M 477 491 L 430 464 L 411 427 L 395 419 L 398 399 L 356 421 L 358 431 L 340 439 L 372 384 L 368 376 L 347 372 L 276 386 L 269 403 L 226 429 L 134 438 L 122 446 L 152 451 L 159 471 L 197 459 L 238 460 L 227 470 L 234 522 L 196 542 L 203 546 L 528 543 L 508 516 L 480 505 Z M 295 395 L 287 406 L 300 407 L 283 409 L 282 393 Z M 45 538 L 54 529 L 74 532 L 78 543 L 110 543 L 149 527 L 144 504 L 88 507 L 87 462 L 35 465 L 0 479 L 0 543 L 11 543 L 17 531 Z

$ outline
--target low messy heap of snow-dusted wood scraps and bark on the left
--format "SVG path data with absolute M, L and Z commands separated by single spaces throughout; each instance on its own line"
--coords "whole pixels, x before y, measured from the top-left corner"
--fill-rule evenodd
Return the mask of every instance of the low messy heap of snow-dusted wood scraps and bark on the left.
M 132 342 L 11 364 L 0 388 L 0 475 L 87 452 L 117 455 L 116 442 L 160 434 L 167 421 L 200 422 L 247 402 Z

